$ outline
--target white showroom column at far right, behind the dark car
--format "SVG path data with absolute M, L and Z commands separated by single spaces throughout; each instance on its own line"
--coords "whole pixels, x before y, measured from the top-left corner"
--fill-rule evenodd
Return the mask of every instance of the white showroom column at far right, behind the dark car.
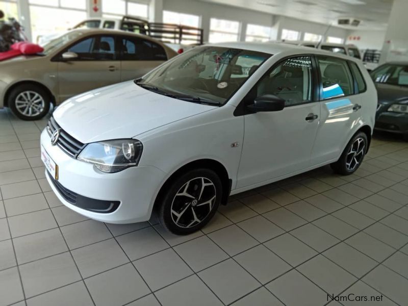
M 408 60 L 408 1 L 394 0 L 384 44 L 382 45 L 380 64 L 389 61 Z

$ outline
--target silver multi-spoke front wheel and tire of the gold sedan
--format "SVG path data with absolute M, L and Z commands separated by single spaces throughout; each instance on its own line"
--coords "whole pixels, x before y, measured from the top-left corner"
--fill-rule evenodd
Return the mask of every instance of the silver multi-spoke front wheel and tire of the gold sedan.
M 40 86 L 22 84 L 12 89 L 7 105 L 22 120 L 38 120 L 49 111 L 51 97 Z

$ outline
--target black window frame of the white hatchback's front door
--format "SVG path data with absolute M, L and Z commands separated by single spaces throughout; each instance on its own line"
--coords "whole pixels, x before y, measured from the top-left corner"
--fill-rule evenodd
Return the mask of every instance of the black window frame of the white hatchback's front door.
M 249 115 L 249 114 L 254 114 L 253 111 L 250 111 L 249 109 L 246 108 L 246 105 L 249 105 L 249 103 L 253 102 L 253 91 L 256 89 L 259 85 L 259 83 L 266 77 L 266 75 L 270 74 L 274 69 L 276 69 L 279 65 L 287 61 L 288 59 L 292 58 L 299 58 L 299 57 L 310 57 L 311 63 L 312 63 L 312 73 L 311 73 L 311 78 L 312 78 L 312 85 L 311 85 L 311 100 L 310 101 L 305 101 L 297 104 L 292 104 L 290 106 L 285 106 L 285 108 L 290 108 L 294 106 L 299 106 L 299 105 L 305 105 L 305 104 L 310 104 L 310 103 L 316 103 L 320 101 L 320 92 L 319 92 L 319 84 L 320 79 L 318 78 L 318 66 L 317 66 L 317 59 L 316 59 L 316 54 L 311 54 L 311 53 L 304 53 L 304 54 L 296 54 L 296 55 L 290 55 L 286 56 L 279 61 L 273 63 L 271 67 L 268 68 L 268 70 L 262 75 L 261 78 L 258 79 L 257 83 L 255 83 L 252 88 L 247 92 L 247 94 L 244 96 L 244 98 L 241 100 L 239 105 L 236 107 L 234 111 L 234 116 L 243 116 L 243 115 Z M 257 97 L 255 97 L 257 98 Z

